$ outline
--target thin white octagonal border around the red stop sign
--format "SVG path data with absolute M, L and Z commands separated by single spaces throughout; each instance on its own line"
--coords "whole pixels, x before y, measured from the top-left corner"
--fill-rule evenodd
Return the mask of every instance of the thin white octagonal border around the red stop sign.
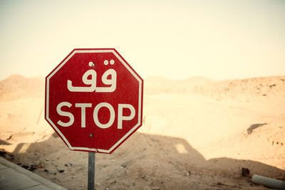
M 48 103 L 49 103 L 49 80 L 53 77 L 53 75 L 55 75 L 58 70 L 61 69 L 61 67 L 67 63 L 67 61 L 74 56 L 74 54 L 76 53 L 113 53 L 119 60 L 121 63 L 123 63 L 123 65 L 125 66 L 125 68 L 127 68 L 130 73 L 132 73 L 132 75 L 138 80 L 139 83 L 139 93 L 138 93 L 138 124 L 135 125 L 135 127 L 133 127 L 127 134 L 125 134 L 116 144 L 113 145 L 113 147 L 111 147 L 110 149 L 90 149 L 88 147 L 72 147 L 71 144 L 68 142 L 68 140 L 66 139 L 66 137 L 64 137 L 64 135 L 61 133 L 60 130 L 58 130 L 58 127 L 56 127 L 56 125 L 54 125 L 54 123 L 51 121 L 51 119 L 48 117 Z M 114 50 L 114 49 L 83 49 L 83 50 L 74 50 L 65 60 L 63 60 L 63 62 L 58 65 L 58 67 L 52 71 L 52 73 L 50 75 L 48 75 L 48 77 L 46 78 L 46 120 L 48 120 L 48 122 L 53 126 L 53 129 L 56 130 L 56 132 L 58 132 L 58 134 L 61 135 L 62 139 L 64 142 L 66 142 L 66 144 L 68 145 L 69 149 L 71 150 L 83 150 L 83 151 L 90 151 L 90 152 L 103 152 L 103 153 L 110 153 L 113 151 L 113 149 L 115 149 L 116 147 L 118 147 L 118 145 L 123 142 L 133 131 L 137 130 L 138 127 L 140 127 L 141 125 L 141 115 L 142 115 L 142 80 L 140 79 L 140 77 L 138 77 L 138 75 L 133 71 L 133 69 L 130 68 L 130 66 L 125 63 L 125 60 L 123 60 L 123 58 L 121 58 L 118 53 Z

